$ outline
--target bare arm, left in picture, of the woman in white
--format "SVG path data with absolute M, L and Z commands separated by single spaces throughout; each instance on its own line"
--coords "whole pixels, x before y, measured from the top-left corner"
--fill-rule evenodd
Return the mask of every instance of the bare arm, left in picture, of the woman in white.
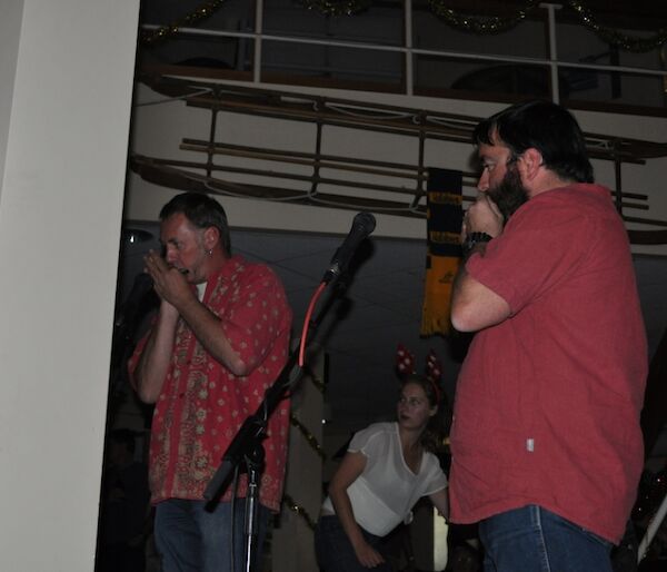
M 374 568 L 385 562 L 385 559 L 377 552 L 364 538 L 361 529 L 355 521 L 352 503 L 347 494 L 347 489 L 364 472 L 366 466 L 366 456 L 362 453 L 348 452 L 342 458 L 340 466 L 331 479 L 329 484 L 329 496 L 334 504 L 334 510 L 340 521 L 342 530 L 355 549 L 357 559 L 362 566 Z

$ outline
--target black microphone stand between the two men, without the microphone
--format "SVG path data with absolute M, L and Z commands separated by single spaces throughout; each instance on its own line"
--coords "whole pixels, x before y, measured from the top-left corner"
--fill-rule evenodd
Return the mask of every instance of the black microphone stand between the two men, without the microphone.
M 316 318 L 310 320 L 310 327 L 308 329 L 309 334 L 317 332 L 323 316 L 330 309 L 335 297 L 347 288 L 347 274 L 336 274 L 330 277 L 327 276 L 327 278 L 322 282 L 328 283 L 330 294 L 321 305 Z M 312 336 L 309 336 L 309 339 L 311 338 Z M 259 407 L 252 415 L 246 417 L 243 424 L 222 455 L 220 465 L 203 492 L 203 497 L 208 501 L 206 505 L 207 510 L 215 510 L 216 503 L 229 486 L 235 470 L 241 464 L 245 466 L 246 472 L 248 473 L 248 494 L 246 495 L 246 517 L 243 524 L 243 535 L 246 539 L 245 572 L 251 572 L 253 570 L 257 558 L 259 484 L 265 460 L 262 441 L 266 438 L 269 417 L 278 404 L 285 398 L 288 389 L 296 385 L 302 376 L 300 366 L 295 369 L 295 366 L 299 365 L 298 358 L 299 351 L 296 348 L 290 353 L 287 364 L 278 378 L 265 392 L 263 400 Z M 231 550 L 233 551 L 233 545 Z

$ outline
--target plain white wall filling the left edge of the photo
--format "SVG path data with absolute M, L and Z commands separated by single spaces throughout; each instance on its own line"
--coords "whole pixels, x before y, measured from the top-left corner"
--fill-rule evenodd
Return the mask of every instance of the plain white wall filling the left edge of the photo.
M 139 0 L 0 8 L 0 570 L 93 569 Z

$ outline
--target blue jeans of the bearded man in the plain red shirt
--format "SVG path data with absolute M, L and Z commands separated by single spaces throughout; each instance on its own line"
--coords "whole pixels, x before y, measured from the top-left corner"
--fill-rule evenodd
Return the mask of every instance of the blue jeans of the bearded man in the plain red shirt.
M 534 504 L 479 523 L 485 572 L 611 572 L 611 543 Z

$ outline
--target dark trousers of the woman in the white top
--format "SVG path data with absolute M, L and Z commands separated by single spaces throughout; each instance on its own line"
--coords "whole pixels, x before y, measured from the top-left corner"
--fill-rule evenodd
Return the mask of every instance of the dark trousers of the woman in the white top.
M 366 542 L 386 559 L 382 552 L 382 539 L 361 529 Z M 368 569 L 361 565 L 355 554 L 355 549 L 340 525 L 338 516 L 320 516 L 315 529 L 315 553 L 317 563 L 322 572 L 391 572 L 388 562 Z

